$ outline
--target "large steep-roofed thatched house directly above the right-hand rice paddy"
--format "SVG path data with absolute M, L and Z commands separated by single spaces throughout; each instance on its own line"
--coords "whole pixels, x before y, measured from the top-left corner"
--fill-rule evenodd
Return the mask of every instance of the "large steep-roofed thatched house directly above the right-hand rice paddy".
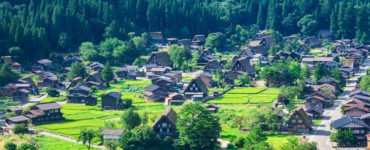
M 249 76 L 254 78 L 256 71 L 250 64 L 249 59 L 247 58 L 240 58 L 236 60 L 231 68 L 231 70 L 236 74 L 245 74 L 247 73 Z

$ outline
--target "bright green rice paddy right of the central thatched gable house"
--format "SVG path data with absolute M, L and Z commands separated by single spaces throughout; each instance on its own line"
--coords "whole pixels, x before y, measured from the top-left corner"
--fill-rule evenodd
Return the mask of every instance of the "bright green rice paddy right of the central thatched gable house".
M 264 104 L 274 102 L 279 94 L 277 88 L 236 88 L 208 103 L 215 104 Z

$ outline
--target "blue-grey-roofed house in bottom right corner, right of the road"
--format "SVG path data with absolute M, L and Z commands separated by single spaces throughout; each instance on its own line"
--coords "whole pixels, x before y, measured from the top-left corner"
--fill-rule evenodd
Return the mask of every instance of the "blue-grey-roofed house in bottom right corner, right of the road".
M 351 129 L 352 133 L 354 134 L 356 138 L 356 142 L 358 142 L 358 145 L 362 145 L 362 146 L 366 145 L 367 143 L 366 134 L 369 131 L 369 126 L 364 121 L 360 119 L 356 119 L 354 117 L 346 116 L 341 119 L 335 120 L 332 126 L 335 130 Z M 346 145 L 346 146 L 351 146 L 351 145 Z

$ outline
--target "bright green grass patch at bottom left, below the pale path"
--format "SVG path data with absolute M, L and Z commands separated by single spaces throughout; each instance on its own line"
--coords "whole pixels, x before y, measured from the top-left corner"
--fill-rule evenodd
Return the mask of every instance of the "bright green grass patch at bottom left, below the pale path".
M 65 141 L 51 136 L 39 136 L 37 137 L 37 143 L 39 144 L 39 150 L 85 150 L 87 146 L 83 144 L 77 144 L 70 141 Z M 98 150 L 97 148 L 91 147 L 91 150 Z

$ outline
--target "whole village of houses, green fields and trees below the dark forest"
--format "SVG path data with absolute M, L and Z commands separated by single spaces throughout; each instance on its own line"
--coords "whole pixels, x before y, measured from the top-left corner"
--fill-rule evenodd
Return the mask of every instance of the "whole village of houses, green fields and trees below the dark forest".
M 2 70 L 20 76 L 0 87 L 0 133 L 122 148 L 128 132 L 137 136 L 143 126 L 163 142 L 186 136 L 180 128 L 193 107 L 219 124 L 208 141 L 221 149 L 243 149 L 255 132 L 266 149 L 370 148 L 370 45 L 327 32 L 279 37 L 262 30 L 241 47 L 220 46 L 215 37 L 148 32 L 147 54 L 133 64 L 85 59 L 82 46 L 33 64 L 2 56 Z M 90 130 L 97 134 L 84 140 Z

